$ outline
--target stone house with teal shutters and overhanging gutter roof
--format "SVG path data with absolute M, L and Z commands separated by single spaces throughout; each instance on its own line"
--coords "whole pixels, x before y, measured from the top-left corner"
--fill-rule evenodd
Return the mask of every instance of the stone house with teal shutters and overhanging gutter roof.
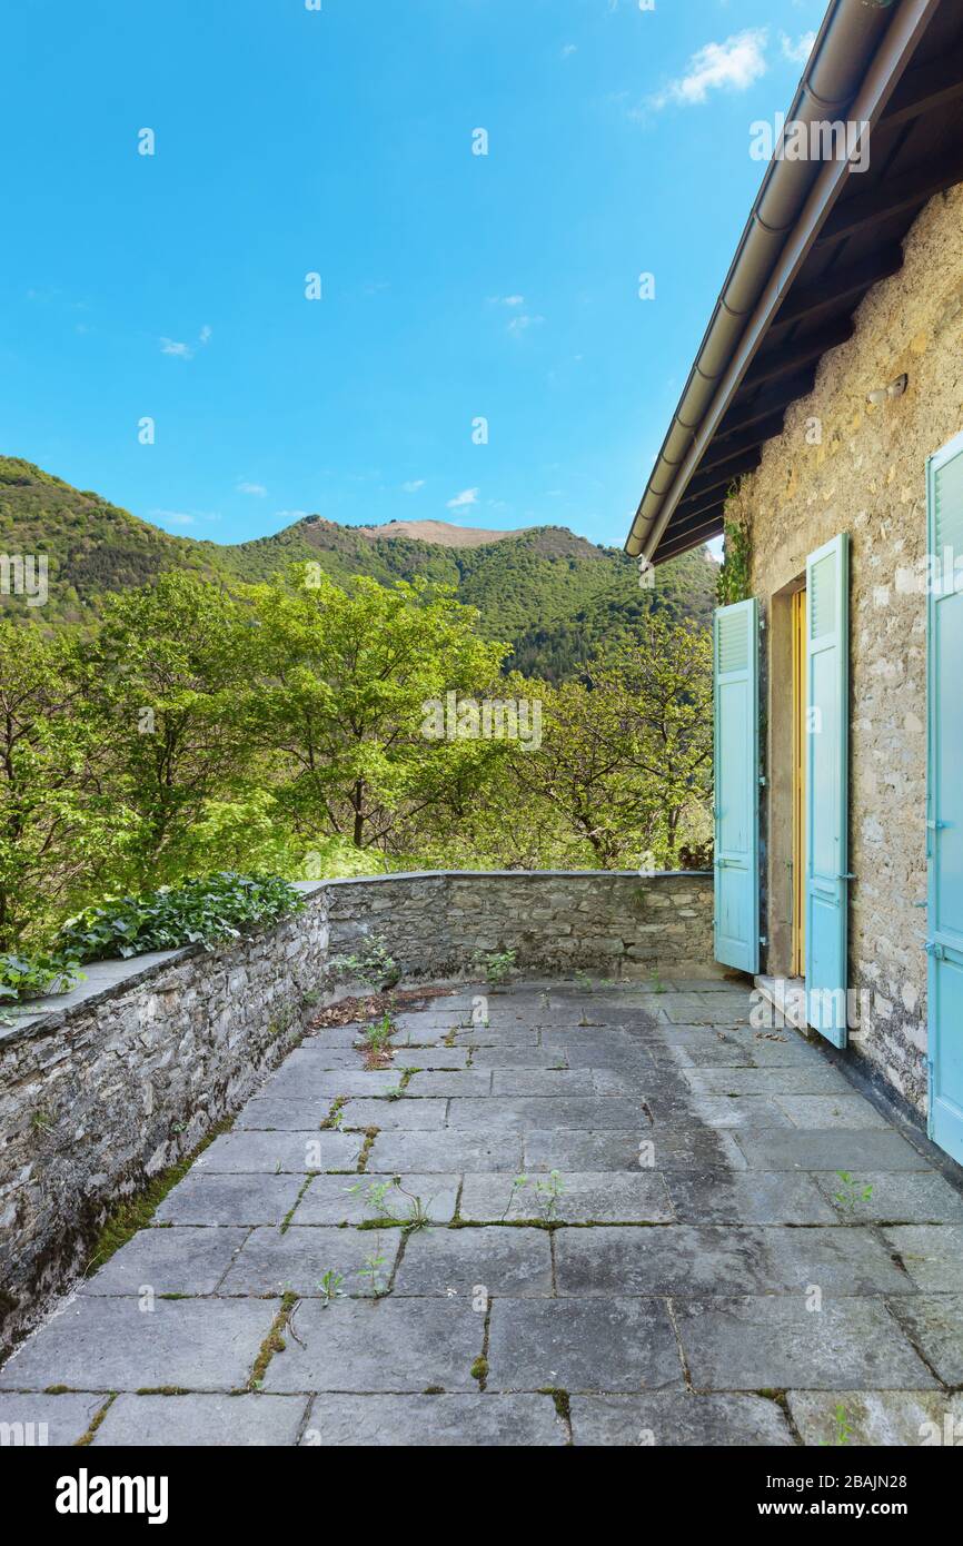
M 838 0 L 782 135 L 626 549 L 725 530 L 716 957 L 963 1161 L 963 6 Z

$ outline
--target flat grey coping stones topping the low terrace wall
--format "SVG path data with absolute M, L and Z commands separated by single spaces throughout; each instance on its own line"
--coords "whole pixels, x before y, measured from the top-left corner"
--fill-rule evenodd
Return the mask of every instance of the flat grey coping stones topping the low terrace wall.
M 706 880 L 711 870 L 657 870 L 654 875 L 641 877 L 638 870 L 396 870 L 386 875 L 345 875 L 337 880 L 294 881 L 303 897 L 314 897 L 332 886 L 373 886 L 380 881 L 413 881 L 413 880 Z M 278 925 L 286 920 L 280 918 Z M 224 942 L 230 948 L 232 942 Z M 0 1025 L 0 1051 L 15 1042 L 37 1034 L 46 1034 L 71 1013 L 80 1006 L 90 1008 L 99 1000 L 111 999 L 128 988 L 159 977 L 165 966 L 189 960 L 204 954 L 204 945 L 181 945 L 173 951 L 147 951 L 144 955 L 130 955 L 127 960 L 88 962 L 83 971 L 83 982 L 79 982 L 70 993 L 48 994 L 45 999 L 34 999 L 29 1014 L 17 1014 L 12 1025 Z M 210 954 L 215 954 L 212 951 Z

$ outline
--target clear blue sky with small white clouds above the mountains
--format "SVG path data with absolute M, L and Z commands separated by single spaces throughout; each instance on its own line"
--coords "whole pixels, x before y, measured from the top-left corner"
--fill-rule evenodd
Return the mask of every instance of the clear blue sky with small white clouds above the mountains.
M 822 9 L 20 0 L 0 450 L 215 541 L 621 544 Z

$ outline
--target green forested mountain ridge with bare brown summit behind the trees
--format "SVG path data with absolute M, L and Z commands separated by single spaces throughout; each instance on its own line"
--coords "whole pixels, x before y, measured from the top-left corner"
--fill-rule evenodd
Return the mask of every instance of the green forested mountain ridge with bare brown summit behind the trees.
M 453 584 L 459 600 L 479 609 L 487 637 L 512 643 L 510 666 L 552 680 L 570 676 L 601 638 L 631 631 L 651 608 L 708 625 L 717 575 L 700 549 L 662 566 L 655 586 L 640 589 L 623 552 L 560 526 L 505 533 L 442 521 L 352 527 L 309 515 L 250 543 L 196 541 L 9 456 L 0 458 L 0 553 L 46 555 L 49 595 L 42 608 L 0 594 L 0 606 L 46 626 L 83 626 L 107 592 L 145 584 L 167 569 L 224 584 L 269 580 L 305 560 L 337 581 L 365 574 L 391 584 L 424 575 Z

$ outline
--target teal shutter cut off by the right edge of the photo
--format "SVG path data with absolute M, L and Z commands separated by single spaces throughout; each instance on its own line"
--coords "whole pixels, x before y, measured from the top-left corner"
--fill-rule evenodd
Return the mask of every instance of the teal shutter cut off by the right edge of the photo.
M 929 1132 L 963 1163 L 963 436 L 927 464 Z

